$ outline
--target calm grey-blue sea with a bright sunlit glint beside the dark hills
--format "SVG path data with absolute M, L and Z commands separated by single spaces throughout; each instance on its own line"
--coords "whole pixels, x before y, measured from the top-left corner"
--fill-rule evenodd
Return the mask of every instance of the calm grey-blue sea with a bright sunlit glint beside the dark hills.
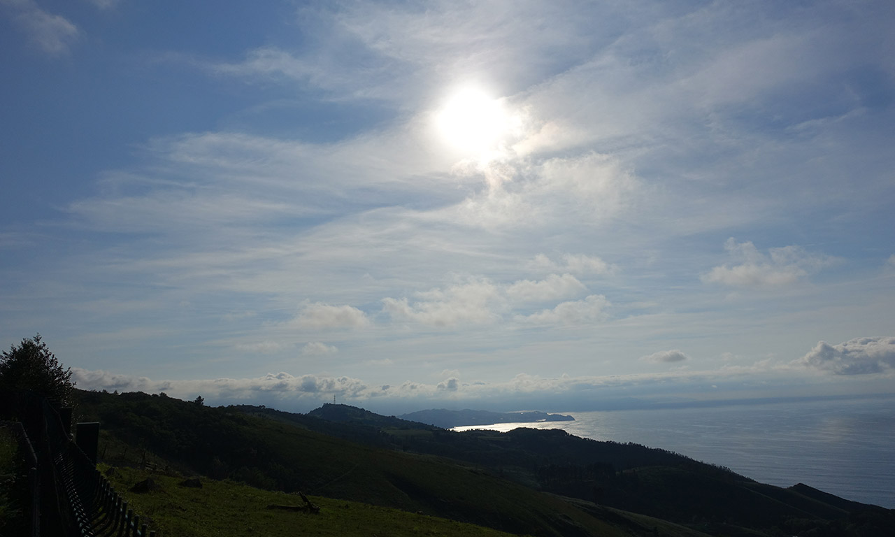
M 574 422 L 455 430 L 563 429 L 661 447 L 757 482 L 815 489 L 895 508 L 895 396 L 725 402 L 712 406 L 558 412 Z

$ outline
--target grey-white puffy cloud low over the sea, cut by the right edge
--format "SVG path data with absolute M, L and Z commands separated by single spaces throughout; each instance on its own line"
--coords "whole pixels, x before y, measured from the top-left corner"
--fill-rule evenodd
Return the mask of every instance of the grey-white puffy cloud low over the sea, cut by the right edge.
M 858 337 L 839 345 L 821 341 L 793 363 L 837 375 L 891 373 L 895 371 L 895 337 Z

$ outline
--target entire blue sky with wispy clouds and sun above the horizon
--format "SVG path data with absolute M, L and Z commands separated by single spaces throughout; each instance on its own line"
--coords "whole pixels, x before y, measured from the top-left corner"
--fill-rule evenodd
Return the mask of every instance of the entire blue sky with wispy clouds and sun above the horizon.
M 0 342 L 301 412 L 891 395 L 893 27 L 0 0 Z

